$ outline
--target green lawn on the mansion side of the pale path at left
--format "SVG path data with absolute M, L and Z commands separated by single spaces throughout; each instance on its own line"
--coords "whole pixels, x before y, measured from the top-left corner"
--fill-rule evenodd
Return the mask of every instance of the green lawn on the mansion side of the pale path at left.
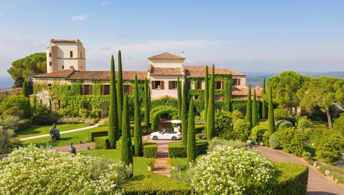
M 56 128 L 61 132 L 61 131 L 68 131 L 68 130 L 73 130 L 73 129 L 79 129 L 83 127 L 87 127 L 88 125 L 82 123 L 82 124 L 57 124 Z M 36 136 L 36 135 L 44 135 L 48 134 L 49 130 L 53 125 L 38 125 L 31 127 L 26 130 L 19 131 L 15 133 L 14 137 L 15 138 L 24 138 L 24 137 L 31 137 L 31 136 Z

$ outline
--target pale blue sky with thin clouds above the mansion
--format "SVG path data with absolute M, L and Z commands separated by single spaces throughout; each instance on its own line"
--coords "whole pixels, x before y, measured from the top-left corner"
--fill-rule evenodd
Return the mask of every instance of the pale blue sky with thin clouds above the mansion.
M 147 70 L 147 58 L 237 72 L 344 71 L 344 1 L 0 0 L 0 76 L 46 52 L 50 39 L 79 39 L 87 70 Z

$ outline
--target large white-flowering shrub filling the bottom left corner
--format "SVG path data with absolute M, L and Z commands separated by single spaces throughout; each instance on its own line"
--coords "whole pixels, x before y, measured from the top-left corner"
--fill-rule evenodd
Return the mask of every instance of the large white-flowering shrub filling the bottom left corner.
M 1 195 L 120 195 L 119 185 L 132 175 L 132 166 L 108 165 L 97 179 L 87 166 L 99 157 L 44 150 L 30 144 L 0 161 Z

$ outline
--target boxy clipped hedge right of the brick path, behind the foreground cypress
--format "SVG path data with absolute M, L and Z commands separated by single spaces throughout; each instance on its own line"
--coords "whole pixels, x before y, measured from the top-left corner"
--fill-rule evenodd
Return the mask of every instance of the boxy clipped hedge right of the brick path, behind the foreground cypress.
M 197 155 L 206 153 L 207 146 L 208 146 L 207 141 L 202 141 L 202 140 L 196 141 Z M 181 142 L 169 143 L 168 147 L 169 147 L 170 158 L 185 158 L 186 157 L 186 146 L 183 146 Z

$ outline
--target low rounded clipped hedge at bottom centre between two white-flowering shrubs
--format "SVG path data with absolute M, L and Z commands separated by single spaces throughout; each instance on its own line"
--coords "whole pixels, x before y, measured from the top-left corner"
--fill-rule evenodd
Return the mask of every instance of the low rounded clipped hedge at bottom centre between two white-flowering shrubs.
M 125 195 L 190 195 L 189 184 L 164 175 L 137 175 L 122 184 Z

